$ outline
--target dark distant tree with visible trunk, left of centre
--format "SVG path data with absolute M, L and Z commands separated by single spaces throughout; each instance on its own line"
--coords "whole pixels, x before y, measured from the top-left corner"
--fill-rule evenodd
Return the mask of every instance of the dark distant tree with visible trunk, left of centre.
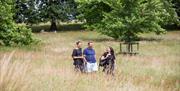
M 18 1 L 16 6 L 19 8 L 17 17 L 23 16 L 23 22 L 27 24 L 50 21 L 50 31 L 57 30 L 57 21 L 68 21 L 75 18 L 76 15 L 76 4 L 74 0 L 16 1 Z

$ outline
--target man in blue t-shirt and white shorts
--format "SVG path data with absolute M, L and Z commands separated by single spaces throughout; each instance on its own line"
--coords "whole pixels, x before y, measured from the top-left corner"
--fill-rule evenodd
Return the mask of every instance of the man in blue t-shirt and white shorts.
M 86 61 L 86 72 L 91 73 L 98 71 L 96 53 L 93 49 L 93 42 L 88 42 L 88 47 L 84 49 L 83 55 Z

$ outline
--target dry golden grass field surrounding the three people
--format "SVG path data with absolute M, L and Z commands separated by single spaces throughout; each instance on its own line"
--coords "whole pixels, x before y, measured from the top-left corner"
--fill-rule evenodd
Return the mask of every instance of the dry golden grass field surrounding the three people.
M 119 42 L 93 31 L 35 35 L 42 40 L 41 44 L 0 47 L 2 91 L 180 91 L 180 31 L 141 35 L 140 54 L 117 55 L 114 77 L 101 71 L 75 73 L 71 52 L 75 41 L 82 40 L 83 48 L 93 41 L 99 58 L 106 46 L 118 53 Z M 12 51 L 13 56 L 8 57 Z

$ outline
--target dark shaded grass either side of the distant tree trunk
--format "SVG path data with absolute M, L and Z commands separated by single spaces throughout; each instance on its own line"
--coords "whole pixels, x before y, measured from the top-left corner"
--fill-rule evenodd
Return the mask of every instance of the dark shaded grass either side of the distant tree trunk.
M 44 30 L 45 32 L 49 32 L 50 25 L 49 24 L 44 24 L 44 25 L 32 25 L 28 26 L 29 28 L 32 29 L 32 32 L 38 33 L 41 32 L 41 30 Z M 57 24 L 57 32 L 61 31 L 78 31 L 78 30 L 83 30 L 83 24 L 63 24 L 59 25 Z

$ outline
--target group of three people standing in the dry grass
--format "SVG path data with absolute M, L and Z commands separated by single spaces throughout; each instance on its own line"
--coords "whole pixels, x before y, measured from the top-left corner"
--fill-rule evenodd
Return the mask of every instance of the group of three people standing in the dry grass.
M 100 57 L 99 64 L 96 61 L 96 52 L 93 48 L 93 42 L 88 42 L 88 47 L 82 50 L 82 42 L 76 42 L 76 48 L 72 52 L 73 65 L 75 71 L 82 73 L 97 72 L 99 67 L 103 67 L 103 72 L 114 75 L 115 54 L 112 47 L 107 47 L 106 51 Z M 98 67 L 99 66 L 99 67 Z

